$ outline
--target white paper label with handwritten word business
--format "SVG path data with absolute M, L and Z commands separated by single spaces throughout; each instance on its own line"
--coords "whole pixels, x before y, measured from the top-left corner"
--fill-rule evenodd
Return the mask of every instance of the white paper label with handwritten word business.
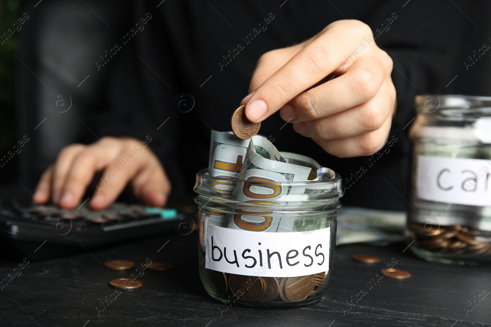
M 205 268 L 237 275 L 297 277 L 329 270 L 329 227 L 265 233 L 208 225 Z

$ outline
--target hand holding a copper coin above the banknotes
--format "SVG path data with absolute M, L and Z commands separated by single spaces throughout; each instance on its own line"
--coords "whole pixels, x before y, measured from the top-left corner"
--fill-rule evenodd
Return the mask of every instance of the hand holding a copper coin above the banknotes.
M 392 59 L 368 25 L 337 21 L 305 42 L 263 54 L 249 86 L 254 92 L 241 104 L 252 122 L 280 110 L 297 133 L 338 157 L 370 155 L 385 143 L 395 113 L 391 72 Z M 339 77 L 326 81 L 331 74 Z

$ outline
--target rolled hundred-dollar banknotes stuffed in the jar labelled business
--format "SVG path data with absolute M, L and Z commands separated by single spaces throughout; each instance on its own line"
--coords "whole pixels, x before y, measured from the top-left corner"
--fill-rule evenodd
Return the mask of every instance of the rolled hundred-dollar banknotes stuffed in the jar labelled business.
M 313 219 L 308 215 L 303 217 L 297 213 L 295 218 L 286 217 L 278 211 L 284 210 L 285 207 L 301 205 L 301 201 L 308 200 L 311 194 L 325 192 L 326 190 L 321 189 L 325 186 L 276 187 L 267 184 L 271 181 L 322 180 L 334 176 L 334 172 L 308 156 L 291 152 L 280 153 L 261 135 L 242 140 L 232 132 L 212 131 L 209 172 L 211 176 L 228 179 L 217 180 L 214 183 L 214 188 L 221 197 L 244 204 L 228 214 L 210 210 L 204 215 L 206 224 L 267 232 L 323 228 L 311 226 L 310 221 Z M 265 183 L 261 184 L 261 181 Z

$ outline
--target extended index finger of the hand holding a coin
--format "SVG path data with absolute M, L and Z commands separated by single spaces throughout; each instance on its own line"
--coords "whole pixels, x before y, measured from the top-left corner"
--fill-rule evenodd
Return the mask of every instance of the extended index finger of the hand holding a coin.
M 359 21 L 328 25 L 322 35 L 259 86 L 247 101 L 247 119 L 255 123 L 265 120 L 288 101 L 321 81 L 346 60 L 345 55 L 351 53 L 350 49 L 359 46 L 364 34 L 371 36 L 370 27 Z

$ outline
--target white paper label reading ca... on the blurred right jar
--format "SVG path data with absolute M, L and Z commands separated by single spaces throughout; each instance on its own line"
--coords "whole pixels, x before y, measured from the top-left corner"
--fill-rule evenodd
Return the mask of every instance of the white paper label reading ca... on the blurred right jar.
M 491 160 L 418 156 L 417 196 L 422 200 L 491 206 Z

